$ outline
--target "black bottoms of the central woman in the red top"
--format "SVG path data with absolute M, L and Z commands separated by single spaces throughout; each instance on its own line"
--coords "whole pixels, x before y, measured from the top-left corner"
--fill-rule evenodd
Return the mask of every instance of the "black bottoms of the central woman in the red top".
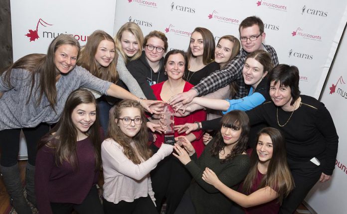
M 151 145 L 154 153 L 158 147 Z M 151 172 L 152 188 L 155 193 L 158 212 L 166 198 L 167 214 L 174 214 L 184 192 L 191 183 L 191 175 L 174 155 L 169 155 L 160 161 L 158 166 Z

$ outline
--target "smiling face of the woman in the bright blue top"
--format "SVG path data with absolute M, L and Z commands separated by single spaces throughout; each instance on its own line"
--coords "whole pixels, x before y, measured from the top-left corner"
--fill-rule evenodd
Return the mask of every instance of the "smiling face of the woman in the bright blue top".
M 259 82 L 266 76 L 267 71 L 264 72 L 264 67 L 254 58 L 248 58 L 242 70 L 243 79 L 247 85 L 256 88 Z

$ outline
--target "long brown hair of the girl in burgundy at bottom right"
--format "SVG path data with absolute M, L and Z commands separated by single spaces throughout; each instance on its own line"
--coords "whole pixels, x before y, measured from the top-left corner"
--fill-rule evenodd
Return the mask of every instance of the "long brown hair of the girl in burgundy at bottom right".
M 262 178 L 258 189 L 266 186 L 277 192 L 278 202 L 282 204 L 283 198 L 294 189 L 294 180 L 287 163 L 286 144 L 281 132 L 275 128 L 266 127 L 259 131 L 258 140 L 261 135 L 268 135 L 273 145 L 272 157 L 269 162 L 267 174 Z M 258 174 L 259 156 L 255 148 L 251 155 L 251 168 L 243 182 L 243 191 L 250 194 L 253 182 Z

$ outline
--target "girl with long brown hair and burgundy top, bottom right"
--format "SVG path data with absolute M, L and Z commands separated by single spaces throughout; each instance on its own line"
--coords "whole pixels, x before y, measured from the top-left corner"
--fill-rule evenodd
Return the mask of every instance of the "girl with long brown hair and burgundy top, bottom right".
M 209 168 L 203 172 L 202 180 L 243 207 L 246 214 L 278 214 L 283 199 L 294 188 L 286 157 L 283 135 L 267 127 L 258 133 L 251 151 L 251 168 L 239 192 L 225 186 Z

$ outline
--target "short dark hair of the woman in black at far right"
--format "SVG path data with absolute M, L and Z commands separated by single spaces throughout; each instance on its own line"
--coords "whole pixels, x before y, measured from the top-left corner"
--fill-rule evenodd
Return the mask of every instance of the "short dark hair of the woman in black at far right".
M 286 64 L 280 64 L 277 65 L 275 68 L 273 68 L 269 75 L 269 88 L 272 81 L 275 81 L 274 83 L 277 84 L 278 82 L 280 85 L 290 87 L 290 94 L 292 95 L 293 99 L 290 103 L 293 105 L 295 101 L 300 96 L 300 90 L 299 90 L 299 70 L 296 66 L 289 66 Z

